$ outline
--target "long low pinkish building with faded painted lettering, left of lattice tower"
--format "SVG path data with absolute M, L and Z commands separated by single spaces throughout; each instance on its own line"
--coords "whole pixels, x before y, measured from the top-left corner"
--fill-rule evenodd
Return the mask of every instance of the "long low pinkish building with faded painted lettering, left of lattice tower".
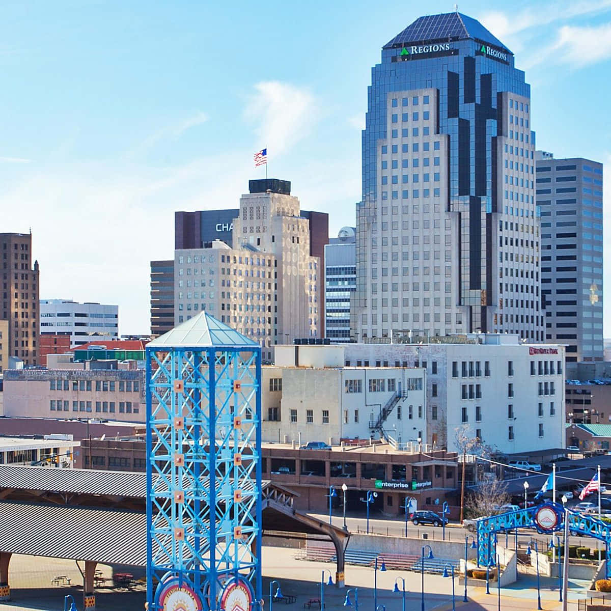
M 4 415 L 144 422 L 144 370 L 7 370 Z

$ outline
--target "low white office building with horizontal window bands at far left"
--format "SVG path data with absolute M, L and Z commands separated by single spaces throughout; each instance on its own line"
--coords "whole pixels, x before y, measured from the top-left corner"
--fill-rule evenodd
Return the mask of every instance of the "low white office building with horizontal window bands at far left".
M 40 300 L 40 334 L 70 335 L 71 347 L 119 337 L 119 306 L 71 299 Z

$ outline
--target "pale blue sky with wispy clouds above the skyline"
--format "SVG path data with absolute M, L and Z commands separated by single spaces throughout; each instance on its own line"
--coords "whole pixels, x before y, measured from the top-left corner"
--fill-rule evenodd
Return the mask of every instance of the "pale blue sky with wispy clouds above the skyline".
M 2 232 L 32 231 L 40 297 L 119 304 L 150 329 L 150 261 L 174 211 L 236 208 L 252 156 L 331 236 L 354 225 L 360 130 L 381 47 L 453 2 L 3 0 Z M 383 10 L 379 10 L 383 7 Z M 606 164 L 611 0 L 459 2 L 515 54 L 537 148 Z M 611 269 L 604 280 L 611 287 Z M 605 334 L 611 334 L 611 299 Z

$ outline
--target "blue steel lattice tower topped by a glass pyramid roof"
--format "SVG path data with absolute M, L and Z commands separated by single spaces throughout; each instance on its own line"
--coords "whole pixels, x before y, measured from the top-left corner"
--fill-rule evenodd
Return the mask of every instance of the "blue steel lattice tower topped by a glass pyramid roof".
M 218 611 L 238 582 L 252 606 L 262 598 L 260 346 L 202 312 L 146 352 L 149 609 L 174 596 Z

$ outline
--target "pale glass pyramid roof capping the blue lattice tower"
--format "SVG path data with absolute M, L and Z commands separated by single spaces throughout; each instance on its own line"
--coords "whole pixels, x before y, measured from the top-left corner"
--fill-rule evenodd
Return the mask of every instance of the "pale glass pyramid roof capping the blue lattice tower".
M 245 346 L 253 348 L 258 343 L 232 329 L 225 323 L 216 320 L 208 312 L 180 323 L 171 331 L 159 335 L 147 344 L 147 348 L 210 348 L 212 346 Z

